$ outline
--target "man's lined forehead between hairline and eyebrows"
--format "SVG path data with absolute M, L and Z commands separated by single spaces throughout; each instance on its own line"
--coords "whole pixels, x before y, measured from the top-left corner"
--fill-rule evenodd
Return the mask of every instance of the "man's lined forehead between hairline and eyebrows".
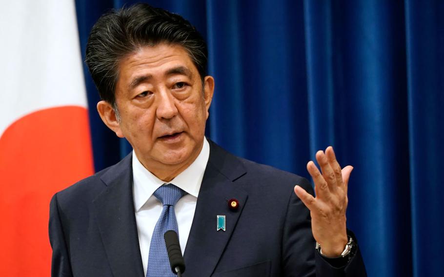
M 174 68 L 185 70 L 172 71 Z M 160 43 L 155 46 L 143 46 L 119 63 L 119 84 L 131 83 L 136 78 L 162 78 L 168 74 L 189 72 L 191 76 L 198 71 L 188 52 L 180 45 Z

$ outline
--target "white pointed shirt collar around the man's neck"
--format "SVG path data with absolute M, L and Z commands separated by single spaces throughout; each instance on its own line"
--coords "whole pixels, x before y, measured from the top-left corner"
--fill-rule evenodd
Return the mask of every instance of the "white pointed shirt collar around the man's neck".
M 202 150 L 199 153 L 199 156 L 193 161 L 193 163 L 190 164 L 190 166 L 188 166 L 184 171 L 182 171 L 178 176 L 168 183 L 178 186 L 188 194 L 197 198 L 209 156 L 210 145 L 206 138 L 204 138 Z M 138 212 L 146 201 L 148 201 L 148 198 L 150 198 L 153 193 L 166 182 L 149 172 L 136 157 L 134 150 L 132 166 L 134 208 L 136 212 Z

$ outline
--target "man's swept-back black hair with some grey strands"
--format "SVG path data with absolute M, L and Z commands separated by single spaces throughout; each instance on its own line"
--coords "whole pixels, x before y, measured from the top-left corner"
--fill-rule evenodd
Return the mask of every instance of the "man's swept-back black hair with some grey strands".
M 103 14 L 89 34 L 85 59 L 101 99 L 115 107 L 121 59 L 142 46 L 161 42 L 181 45 L 203 81 L 207 75 L 208 50 L 205 40 L 189 21 L 144 3 Z

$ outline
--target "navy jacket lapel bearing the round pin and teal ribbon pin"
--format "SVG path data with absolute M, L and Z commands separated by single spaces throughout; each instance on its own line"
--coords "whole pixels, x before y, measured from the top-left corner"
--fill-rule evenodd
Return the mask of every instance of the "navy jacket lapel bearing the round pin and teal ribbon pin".
M 211 276 L 228 243 L 248 195 L 234 180 L 245 174 L 239 159 L 210 141 L 210 158 L 205 169 L 190 235 L 185 248 L 185 276 Z M 228 200 L 240 202 L 237 211 Z M 226 231 L 217 231 L 217 216 L 226 217 Z

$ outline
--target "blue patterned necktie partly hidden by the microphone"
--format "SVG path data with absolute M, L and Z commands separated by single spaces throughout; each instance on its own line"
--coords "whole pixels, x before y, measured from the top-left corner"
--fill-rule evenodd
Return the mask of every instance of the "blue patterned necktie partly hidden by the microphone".
M 185 194 L 186 192 L 173 184 L 161 185 L 153 194 L 156 198 L 161 200 L 163 208 L 161 216 L 156 223 L 156 227 L 154 227 L 153 237 L 151 237 L 146 277 L 176 276 L 171 271 L 163 234 L 165 234 L 166 231 L 173 230 L 179 236 L 174 206 Z

